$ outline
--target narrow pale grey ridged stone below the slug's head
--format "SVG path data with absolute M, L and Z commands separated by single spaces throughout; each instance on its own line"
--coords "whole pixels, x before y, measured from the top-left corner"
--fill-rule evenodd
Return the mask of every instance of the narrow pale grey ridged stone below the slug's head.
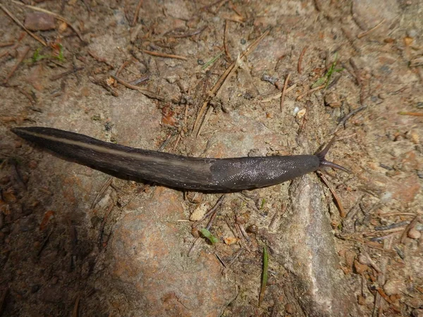
M 291 214 L 269 234 L 273 255 L 290 273 L 306 316 L 357 315 L 352 290 L 339 268 L 322 187 L 314 175 L 293 181 Z

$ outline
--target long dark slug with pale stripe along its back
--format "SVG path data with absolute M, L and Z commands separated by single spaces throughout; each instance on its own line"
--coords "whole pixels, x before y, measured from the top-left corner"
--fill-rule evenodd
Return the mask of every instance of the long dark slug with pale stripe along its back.
M 124 147 L 54 128 L 13 128 L 12 131 L 66 159 L 105 173 L 181 189 L 234 192 L 276 185 L 325 166 L 348 172 L 324 159 L 333 139 L 316 155 L 208 159 Z

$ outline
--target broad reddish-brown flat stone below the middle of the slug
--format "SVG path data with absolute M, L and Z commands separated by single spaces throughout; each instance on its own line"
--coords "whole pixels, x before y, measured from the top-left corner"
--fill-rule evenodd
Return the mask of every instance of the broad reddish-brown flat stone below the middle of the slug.
M 145 316 L 220 316 L 236 295 L 214 254 L 187 258 L 185 217 L 180 194 L 157 187 L 116 225 L 112 275 Z

